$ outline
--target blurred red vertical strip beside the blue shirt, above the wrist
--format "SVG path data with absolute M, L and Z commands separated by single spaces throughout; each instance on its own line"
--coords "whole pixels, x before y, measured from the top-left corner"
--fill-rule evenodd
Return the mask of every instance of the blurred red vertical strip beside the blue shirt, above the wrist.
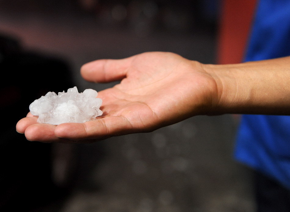
M 243 60 L 256 0 L 223 0 L 218 32 L 217 63 Z

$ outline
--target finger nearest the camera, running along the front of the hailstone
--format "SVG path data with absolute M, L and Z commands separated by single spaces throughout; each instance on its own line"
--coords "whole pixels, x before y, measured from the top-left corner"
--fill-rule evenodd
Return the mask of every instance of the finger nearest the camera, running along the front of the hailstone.
M 135 130 L 123 116 L 108 116 L 85 123 L 64 123 L 56 126 L 55 134 L 70 140 L 105 139 L 133 133 Z

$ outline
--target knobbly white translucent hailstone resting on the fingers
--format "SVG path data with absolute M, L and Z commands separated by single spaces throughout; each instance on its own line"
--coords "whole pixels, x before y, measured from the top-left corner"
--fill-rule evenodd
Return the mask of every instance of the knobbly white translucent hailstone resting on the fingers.
M 45 96 L 34 100 L 29 106 L 32 115 L 38 116 L 39 123 L 58 125 L 66 122 L 83 123 L 102 115 L 102 100 L 96 98 L 97 91 L 86 89 L 78 93 L 77 87 L 67 93 L 48 92 Z

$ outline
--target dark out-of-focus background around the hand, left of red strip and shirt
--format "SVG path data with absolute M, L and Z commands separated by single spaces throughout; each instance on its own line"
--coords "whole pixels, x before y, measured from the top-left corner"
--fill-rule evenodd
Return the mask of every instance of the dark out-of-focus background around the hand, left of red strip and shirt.
M 215 0 L 0 0 L 0 210 L 253 211 L 251 171 L 232 157 L 238 116 L 197 116 L 93 144 L 28 142 L 15 132 L 48 91 L 97 91 L 80 67 L 171 51 L 218 62 Z M 234 52 L 233 52 L 234 53 Z

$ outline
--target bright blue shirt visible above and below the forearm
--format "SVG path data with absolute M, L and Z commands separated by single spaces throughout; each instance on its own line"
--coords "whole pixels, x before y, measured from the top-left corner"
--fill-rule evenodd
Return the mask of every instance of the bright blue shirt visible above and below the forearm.
M 260 0 L 245 61 L 289 55 L 290 1 Z M 243 115 L 235 157 L 290 189 L 290 116 Z

